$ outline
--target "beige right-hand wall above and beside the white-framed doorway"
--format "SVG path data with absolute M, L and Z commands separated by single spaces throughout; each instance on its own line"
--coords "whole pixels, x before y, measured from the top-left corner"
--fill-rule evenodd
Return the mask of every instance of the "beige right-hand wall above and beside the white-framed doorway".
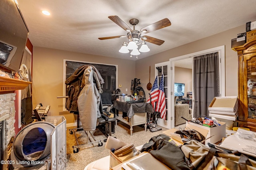
M 151 72 L 153 73 L 156 69 L 154 67 L 155 63 L 162 63 L 169 61 L 170 58 L 225 45 L 226 96 L 238 96 L 238 57 L 236 51 L 231 49 L 231 39 L 236 38 L 238 33 L 243 33 L 245 31 L 245 25 L 242 25 L 216 35 L 152 55 L 145 59 L 140 59 L 136 61 L 136 77 L 140 78 L 142 88 L 145 90 L 148 82 L 147 70 L 149 65 L 151 65 Z M 154 74 L 151 74 L 150 79 L 154 80 Z M 148 94 L 149 91 L 145 90 L 145 93 Z

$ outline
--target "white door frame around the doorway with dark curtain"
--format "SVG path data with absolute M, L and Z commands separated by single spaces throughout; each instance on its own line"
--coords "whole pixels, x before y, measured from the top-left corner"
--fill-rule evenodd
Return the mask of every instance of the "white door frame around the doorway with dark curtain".
M 174 113 L 174 73 L 175 73 L 175 69 L 174 69 L 174 61 L 178 61 L 178 60 L 182 60 L 182 59 L 187 59 L 187 58 L 191 58 L 191 57 L 196 57 L 199 55 L 204 55 L 204 54 L 209 54 L 209 53 L 215 53 L 218 52 L 219 54 L 219 70 L 220 70 L 220 96 L 225 96 L 226 94 L 226 90 L 225 90 L 225 45 L 219 46 L 219 47 L 215 47 L 212 49 L 207 49 L 207 50 L 203 50 L 203 51 L 198 51 L 196 53 L 191 53 L 191 54 L 187 54 L 187 55 L 182 55 L 179 57 L 175 57 L 175 58 L 171 58 L 170 61 L 170 66 L 171 66 L 171 79 L 170 79 L 170 89 L 171 89 L 171 112 Z M 192 72 L 194 70 L 194 66 L 192 66 Z M 192 74 L 193 76 L 193 74 Z M 193 84 L 193 77 L 192 77 L 192 84 Z M 168 87 L 169 89 L 169 87 Z M 193 89 L 193 87 L 192 87 Z M 193 89 L 194 91 L 194 89 Z M 194 95 L 193 99 L 194 99 Z M 193 102 L 192 102 L 193 104 Z M 174 128 L 174 123 L 172 124 Z

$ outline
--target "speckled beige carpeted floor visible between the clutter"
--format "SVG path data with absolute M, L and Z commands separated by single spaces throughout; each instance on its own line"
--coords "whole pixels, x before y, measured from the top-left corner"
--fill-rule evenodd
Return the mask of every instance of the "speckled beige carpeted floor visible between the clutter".
M 76 139 L 74 134 L 70 134 L 69 129 L 75 127 L 67 128 L 67 168 L 66 170 L 84 170 L 87 164 L 98 160 L 105 156 L 108 156 L 110 150 L 105 149 L 104 139 L 106 137 L 98 130 L 94 132 L 94 137 L 96 141 L 101 140 L 103 146 L 98 147 L 99 143 L 87 144 L 80 147 L 78 153 L 73 153 L 72 146 L 76 146 Z M 143 145 L 148 142 L 151 137 L 161 134 L 163 131 L 166 131 L 166 128 L 161 127 L 161 131 L 150 132 L 149 129 L 144 131 L 144 125 L 134 126 L 132 136 L 130 136 L 130 126 L 118 121 L 118 125 L 115 128 L 115 134 L 113 137 L 116 137 L 120 141 L 123 141 L 127 144 L 133 143 L 136 147 Z M 78 137 L 79 145 L 86 143 L 87 135 L 85 131 L 76 132 Z M 95 146 L 95 147 L 94 147 Z

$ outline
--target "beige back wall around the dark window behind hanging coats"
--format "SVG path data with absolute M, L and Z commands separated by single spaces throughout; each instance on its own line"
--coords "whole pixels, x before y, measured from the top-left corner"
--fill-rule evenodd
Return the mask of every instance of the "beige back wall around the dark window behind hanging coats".
M 128 91 L 130 90 L 131 80 L 135 77 L 135 61 L 34 47 L 33 108 L 40 103 L 43 106 L 50 105 L 48 114 L 52 116 L 64 115 L 67 123 L 76 122 L 76 116 L 68 111 L 62 111 L 63 99 L 57 98 L 57 96 L 62 96 L 63 91 L 63 59 L 118 65 L 118 84 L 122 84 L 120 90 L 123 93 L 125 93 L 126 88 L 128 88 Z

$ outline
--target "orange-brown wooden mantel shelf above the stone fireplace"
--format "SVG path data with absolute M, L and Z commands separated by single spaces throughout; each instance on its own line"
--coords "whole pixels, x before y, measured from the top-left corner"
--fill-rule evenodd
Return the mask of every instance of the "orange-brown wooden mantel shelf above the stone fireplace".
M 0 92 L 22 90 L 25 89 L 29 84 L 32 84 L 32 82 L 0 76 Z

